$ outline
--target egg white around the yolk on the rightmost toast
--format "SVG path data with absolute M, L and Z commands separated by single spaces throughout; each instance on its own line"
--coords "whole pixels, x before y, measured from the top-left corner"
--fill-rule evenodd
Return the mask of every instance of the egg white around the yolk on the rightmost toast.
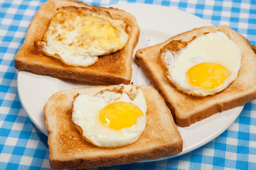
M 225 33 L 207 33 L 188 43 L 178 52 L 166 50 L 161 55 L 168 69 L 166 76 L 180 91 L 194 96 L 208 96 L 223 91 L 236 77 L 241 63 L 238 46 Z M 191 86 L 186 78 L 188 69 L 196 64 L 213 62 L 223 65 L 230 71 L 230 76 L 215 89 L 203 89 Z

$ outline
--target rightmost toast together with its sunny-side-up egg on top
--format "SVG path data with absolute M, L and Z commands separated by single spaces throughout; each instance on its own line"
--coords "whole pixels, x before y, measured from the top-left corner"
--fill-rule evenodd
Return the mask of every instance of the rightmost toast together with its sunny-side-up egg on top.
M 216 40 L 215 45 L 210 45 L 212 41 L 209 42 L 208 38 L 213 38 L 213 42 Z M 255 51 L 254 45 L 250 45 L 245 37 L 228 26 L 206 26 L 139 49 L 135 61 L 164 97 L 176 123 L 186 127 L 256 98 Z M 183 58 L 185 53 L 190 57 Z M 213 54 L 217 56 L 211 56 Z M 171 73 L 173 68 L 180 72 Z M 223 89 L 216 90 L 218 86 Z M 200 89 L 201 92 L 197 93 L 193 89 Z

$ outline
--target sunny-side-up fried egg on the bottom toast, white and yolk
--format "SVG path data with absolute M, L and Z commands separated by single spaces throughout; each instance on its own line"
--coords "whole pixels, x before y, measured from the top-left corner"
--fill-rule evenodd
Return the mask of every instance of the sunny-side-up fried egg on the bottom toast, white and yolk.
M 146 126 L 146 100 L 141 88 L 120 85 L 95 96 L 78 94 L 72 120 L 82 138 L 98 147 L 121 147 L 138 140 Z

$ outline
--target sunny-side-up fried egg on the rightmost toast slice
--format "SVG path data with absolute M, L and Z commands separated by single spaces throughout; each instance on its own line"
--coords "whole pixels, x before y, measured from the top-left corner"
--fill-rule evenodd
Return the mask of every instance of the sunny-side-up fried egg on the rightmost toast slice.
M 223 32 L 206 33 L 191 42 L 171 41 L 161 49 L 166 77 L 179 91 L 208 96 L 223 91 L 241 64 L 238 46 Z

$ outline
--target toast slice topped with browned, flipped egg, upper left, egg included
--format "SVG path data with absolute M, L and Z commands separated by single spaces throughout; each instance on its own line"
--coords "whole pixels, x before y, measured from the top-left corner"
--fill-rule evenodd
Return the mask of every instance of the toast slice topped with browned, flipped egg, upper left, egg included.
M 126 11 L 48 0 L 33 17 L 14 65 L 89 84 L 129 84 L 138 40 L 137 20 Z

